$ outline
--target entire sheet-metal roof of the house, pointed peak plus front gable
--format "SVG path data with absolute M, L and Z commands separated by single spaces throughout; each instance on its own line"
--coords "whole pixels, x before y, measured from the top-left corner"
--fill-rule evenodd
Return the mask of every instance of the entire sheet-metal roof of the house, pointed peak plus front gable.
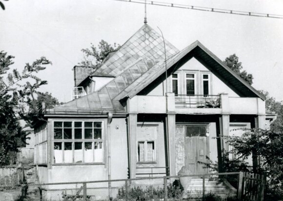
M 140 30 L 148 28 L 148 25 L 143 25 Z M 137 33 L 140 33 L 140 30 Z M 147 33 L 154 33 L 151 28 L 146 29 Z M 134 35 L 136 36 L 137 33 Z M 155 36 L 155 34 L 153 34 Z M 137 36 L 136 36 L 137 37 Z M 136 38 L 134 37 L 134 38 Z M 133 37 L 131 37 L 133 38 Z M 128 40 L 130 41 L 131 38 Z M 147 37 L 150 40 L 151 37 Z M 146 41 L 147 41 L 146 40 Z M 128 41 L 125 44 L 128 44 Z M 143 42 L 147 44 L 147 42 Z M 142 43 L 142 44 L 143 44 Z M 124 44 L 124 45 L 125 45 Z M 124 46 L 123 45 L 123 46 Z M 140 46 L 136 43 L 138 47 Z M 157 44 L 159 46 L 160 43 Z M 123 47 L 122 46 L 122 47 Z M 124 46 L 123 49 L 128 49 L 130 45 Z M 166 46 L 170 47 L 170 43 L 166 43 Z M 132 46 L 131 46 L 132 47 Z M 149 46 L 147 46 L 149 47 Z M 174 46 L 173 46 L 174 47 Z M 133 52 L 129 51 L 127 56 L 132 55 L 129 65 L 126 65 L 126 61 L 122 62 L 126 57 L 121 56 L 118 59 L 115 56 L 121 48 L 110 57 L 105 63 L 112 60 L 109 66 L 104 66 L 104 69 L 98 69 L 100 73 L 94 73 L 94 76 L 102 76 L 101 74 L 109 73 L 115 78 L 106 84 L 101 90 L 93 92 L 91 94 L 85 95 L 68 103 L 65 103 L 59 107 L 49 110 L 49 113 L 53 114 L 101 114 L 112 111 L 114 113 L 125 114 L 126 111 L 121 104 L 121 99 L 126 97 L 132 98 L 139 92 L 141 92 L 145 87 L 150 85 L 154 80 L 163 76 L 165 78 L 165 62 L 162 59 L 162 46 L 158 48 L 161 53 L 154 53 L 156 49 L 152 47 L 148 49 L 148 53 L 144 53 L 142 57 L 137 57 L 134 50 L 139 49 L 132 47 Z M 146 48 L 145 48 L 146 49 Z M 144 51 L 145 51 L 144 49 Z M 152 51 L 151 51 L 152 50 Z M 176 51 L 176 52 L 175 52 Z M 156 51 L 155 51 L 156 52 Z M 170 52 L 170 48 L 169 48 Z M 175 54 L 171 54 L 175 52 Z M 167 69 L 170 72 L 174 72 L 179 67 L 181 67 L 190 58 L 195 57 L 199 60 L 206 68 L 208 68 L 212 73 L 218 76 L 224 83 L 229 85 L 235 92 L 240 96 L 244 97 L 260 97 L 265 99 L 263 95 L 250 86 L 246 81 L 244 81 L 238 74 L 234 73 L 229 67 L 227 67 L 216 55 L 211 53 L 207 48 L 205 48 L 202 43 L 195 41 L 188 47 L 184 48 L 181 52 L 177 52 L 174 48 L 171 49 L 171 53 L 167 53 Z M 155 56 L 155 54 L 159 56 Z M 147 55 L 147 56 L 145 56 Z M 118 56 L 118 55 L 117 55 Z M 135 59 L 133 59 L 135 58 Z M 114 59 L 114 60 L 113 60 Z M 116 59 L 116 61 L 115 61 Z M 121 62 L 118 62 L 121 59 Z M 118 64 L 116 64 L 118 62 Z M 102 66 L 101 66 L 102 67 Z M 112 69 L 113 68 L 113 69 Z M 97 71 L 98 71 L 97 70 Z M 96 72 L 97 72 L 96 71 Z M 115 74 L 115 75 L 114 75 Z

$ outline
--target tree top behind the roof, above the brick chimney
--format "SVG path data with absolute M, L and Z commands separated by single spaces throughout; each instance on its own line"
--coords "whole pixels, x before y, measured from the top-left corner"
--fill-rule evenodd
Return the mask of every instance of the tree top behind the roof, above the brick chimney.
M 104 40 L 101 40 L 99 42 L 98 48 L 91 43 L 90 49 L 86 48 L 81 50 L 84 55 L 84 58 L 81 62 L 79 62 L 79 65 L 99 68 L 101 62 L 106 58 L 106 56 L 110 52 L 116 51 L 119 48 L 119 44 L 114 43 L 113 45 L 111 45 Z

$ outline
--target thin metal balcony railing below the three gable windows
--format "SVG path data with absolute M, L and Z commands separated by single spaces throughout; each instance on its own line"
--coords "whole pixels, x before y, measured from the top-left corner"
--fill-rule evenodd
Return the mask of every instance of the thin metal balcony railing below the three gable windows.
M 176 108 L 221 108 L 220 95 L 182 95 L 175 96 Z

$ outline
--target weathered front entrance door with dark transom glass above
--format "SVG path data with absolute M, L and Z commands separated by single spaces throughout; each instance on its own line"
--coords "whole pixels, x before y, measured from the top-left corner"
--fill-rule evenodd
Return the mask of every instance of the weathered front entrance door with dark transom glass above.
M 209 137 L 206 136 L 206 125 L 185 126 L 185 165 L 192 174 L 207 173 L 205 164 L 209 157 Z

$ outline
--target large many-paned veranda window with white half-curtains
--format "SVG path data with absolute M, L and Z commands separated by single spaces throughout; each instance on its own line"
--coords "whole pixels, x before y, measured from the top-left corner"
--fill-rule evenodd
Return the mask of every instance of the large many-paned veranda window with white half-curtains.
M 102 163 L 102 122 L 54 121 L 54 163 Z

